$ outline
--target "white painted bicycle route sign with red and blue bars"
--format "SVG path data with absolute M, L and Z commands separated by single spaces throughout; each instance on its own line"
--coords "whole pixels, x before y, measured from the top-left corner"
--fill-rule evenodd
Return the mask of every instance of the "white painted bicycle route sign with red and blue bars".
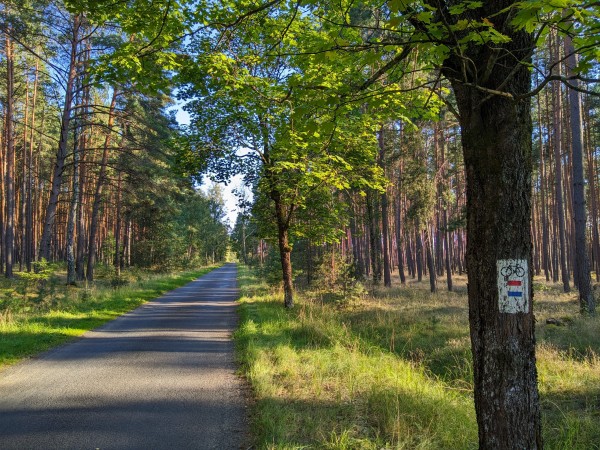
M 498 308 L 501 313 L 529 312 L 529 269 L 526 259 L 499 259 Z

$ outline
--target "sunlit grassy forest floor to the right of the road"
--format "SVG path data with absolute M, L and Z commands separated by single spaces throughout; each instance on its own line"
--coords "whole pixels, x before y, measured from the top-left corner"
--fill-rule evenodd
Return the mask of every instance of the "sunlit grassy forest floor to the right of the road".
M 352 302 L 282 295 L 240 267 L 239 357 L 257 448 L 477 448 L 466 279 L 371 289 Z M 536 279 L 538 380 L 547 449 L 600 449 L 600 318 Z M 546 323 L 558 319 L 559 325 Z

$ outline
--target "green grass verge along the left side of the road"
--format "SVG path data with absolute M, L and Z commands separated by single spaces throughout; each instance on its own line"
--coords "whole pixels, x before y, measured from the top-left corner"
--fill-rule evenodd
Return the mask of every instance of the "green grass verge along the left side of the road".
M 216 266 L 155 274 L 124 273 L 119 283 L 100 278 L 81 287 L 65 285 L 60 272 L 0 281 L 0 369 L 63 344 Z

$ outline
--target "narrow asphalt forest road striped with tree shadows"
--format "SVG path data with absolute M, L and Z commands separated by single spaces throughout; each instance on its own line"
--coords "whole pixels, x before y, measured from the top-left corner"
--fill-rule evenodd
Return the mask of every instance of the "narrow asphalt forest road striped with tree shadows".
M 0 449 L 243 448 L 236 286 L 227 264 L 1 372 Z

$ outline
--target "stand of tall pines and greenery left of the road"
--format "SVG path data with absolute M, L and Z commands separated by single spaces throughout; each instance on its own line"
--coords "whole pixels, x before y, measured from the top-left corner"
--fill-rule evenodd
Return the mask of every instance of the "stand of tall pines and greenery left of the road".
M 2 17 L 5 276 L 42 259 L 66 262 L 69 283 L 98 263 L 118 274 L 223 259 L 222 194 L 177 169 L 168 86 L 93 74 L 120 28 L 60 2 L 9 2 Z

